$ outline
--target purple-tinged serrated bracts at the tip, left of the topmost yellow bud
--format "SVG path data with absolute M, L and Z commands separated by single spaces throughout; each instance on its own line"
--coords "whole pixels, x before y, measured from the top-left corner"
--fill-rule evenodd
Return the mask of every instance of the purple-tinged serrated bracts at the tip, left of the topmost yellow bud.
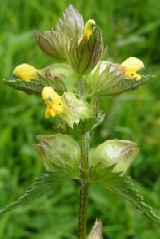
M 83 33 L 84 23 L 82 16 L 70 4 L 59 19 L 56 29 L 45 31 L 42 35 L 35 32 L 37 43 L 40 49 L 56 62 L 67 60 L 67 51 L 75 41 L 77 42 Z

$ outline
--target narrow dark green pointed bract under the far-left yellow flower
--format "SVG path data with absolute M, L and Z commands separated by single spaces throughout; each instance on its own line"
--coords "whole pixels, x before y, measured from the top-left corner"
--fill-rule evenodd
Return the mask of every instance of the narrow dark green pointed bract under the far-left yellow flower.
M 43 85 L 38 80 L 24 81 L 21 79 L 16 80 L 3 80 L 8 86 L 23 91 L 27 94 L 33 94 L 41 97 Z

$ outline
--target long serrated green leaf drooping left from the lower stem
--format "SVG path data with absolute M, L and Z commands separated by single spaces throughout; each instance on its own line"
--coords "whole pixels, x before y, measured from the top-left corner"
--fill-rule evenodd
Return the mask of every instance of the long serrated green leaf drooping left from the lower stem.
M 0 213 L 10 211 L 27 202 L 30 202 L 34 198 L 39 197 L 46 191 L 58 186 L 60 183 L 64 183 L 68 179 L 79 178 L 78 167 L 77 169 L 73 169 L 69 165 L 65 165 L 64 167 L 57 165 L 54 166 L 56 168 L 55 171 L 44 171 L 44 173 L 39 178 L 35 179 L 36 182 L 28 187 L 26 193 L 23 196 L 19 197 L 17 201 L 6 206 L 6 208 L 2 209 Z

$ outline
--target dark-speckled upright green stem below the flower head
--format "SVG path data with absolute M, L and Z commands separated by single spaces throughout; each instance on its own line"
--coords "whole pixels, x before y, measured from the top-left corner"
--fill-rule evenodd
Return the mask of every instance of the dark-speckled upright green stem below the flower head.
M 87 134 L 81 138 L 81 169 L 88 169 L 88 142 Z M 89 184 L 85 181 L 83 170 L 81 171 L 80 180 L 80 203 L 79 203 L 79 239 L 87 237 L 87 201 Z

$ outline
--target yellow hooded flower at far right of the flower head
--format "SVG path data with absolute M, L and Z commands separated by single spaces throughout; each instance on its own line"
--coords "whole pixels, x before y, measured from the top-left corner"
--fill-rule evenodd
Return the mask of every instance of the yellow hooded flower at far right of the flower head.
M 141 75 L 137 73 L 137 71 L 143 70 L 145 67 L 143 62 L 138 58 L 129 57 L 127 58 L 127 60 L 123 61 L 121 65 L 126 67 L 124 75 L 125 79 L 140 80 L 142 78 Z

